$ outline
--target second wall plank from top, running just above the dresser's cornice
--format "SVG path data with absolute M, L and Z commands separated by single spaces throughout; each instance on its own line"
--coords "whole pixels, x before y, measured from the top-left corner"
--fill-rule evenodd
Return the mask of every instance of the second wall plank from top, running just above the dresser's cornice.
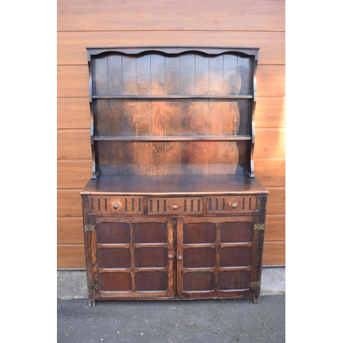
M 183 45 L 259 47 L 259 64 L 285 64 L 285 32 L 58 32 L 59 65 L 87 64 L 86 47 Z

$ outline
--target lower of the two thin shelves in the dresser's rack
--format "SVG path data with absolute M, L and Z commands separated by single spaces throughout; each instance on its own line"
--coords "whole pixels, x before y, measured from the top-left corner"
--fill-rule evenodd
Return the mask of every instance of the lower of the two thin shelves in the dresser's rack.
M 251 136 L 95 136 L 94 141 L 251 141 Z

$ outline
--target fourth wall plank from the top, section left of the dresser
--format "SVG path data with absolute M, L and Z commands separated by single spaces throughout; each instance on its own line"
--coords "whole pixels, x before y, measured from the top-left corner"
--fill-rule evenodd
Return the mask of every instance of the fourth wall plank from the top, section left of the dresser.
M 88 97 L 62 97 L 57 99 L 57 128 L 71 129 L 91 127 Z

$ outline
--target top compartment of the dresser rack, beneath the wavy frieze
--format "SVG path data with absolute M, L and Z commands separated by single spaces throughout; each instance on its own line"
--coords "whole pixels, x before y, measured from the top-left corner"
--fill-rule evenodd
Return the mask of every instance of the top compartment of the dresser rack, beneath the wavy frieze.
M 90 64 L 91 99 L 252 99 L 255 60 L 246 55 L 100 54 Z

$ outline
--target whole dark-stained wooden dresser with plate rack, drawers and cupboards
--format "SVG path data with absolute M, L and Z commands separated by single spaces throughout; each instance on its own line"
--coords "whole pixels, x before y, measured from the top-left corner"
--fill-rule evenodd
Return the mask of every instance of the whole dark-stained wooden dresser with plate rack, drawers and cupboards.
M 185 49 L 87 48 L 95 169 L 81 196 L 91 305 L 259 302 L 268 190 L 251 167 L 258 49 Z

